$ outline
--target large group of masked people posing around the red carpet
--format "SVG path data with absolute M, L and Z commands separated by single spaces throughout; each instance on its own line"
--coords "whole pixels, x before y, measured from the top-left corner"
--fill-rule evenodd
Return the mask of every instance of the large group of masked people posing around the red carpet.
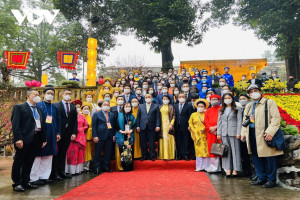
M 90 169 L 111 172 L 112 159 L 117 171 L 133 170 L 136 159 L 195 159 L 196 172 L 223 169 L 226 177 L 242 173 L 253 185 L 276 186 L 276 156 L 283 152 L 266 144 L 280 127 L 276 103 L 262 97 L 255 76 L 247 94 L 234 96 L 229 71 L 121 70 L 117 81 L 102 80 L 98 96 L 87 91 L 72 100 L 72 90 L 65 89 L 56 103 L 53 87 L 45 87 L 43 99 L 29 89 L 27 101 L 12 111 L 14 190 Z M 227 155 L 211 152 L 216 143 L 227 146 Z

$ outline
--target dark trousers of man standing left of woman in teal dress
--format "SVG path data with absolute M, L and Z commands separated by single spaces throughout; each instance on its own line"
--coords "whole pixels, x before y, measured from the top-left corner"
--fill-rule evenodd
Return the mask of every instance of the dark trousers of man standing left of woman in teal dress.
M 95 144 L 94 168 L 96 170 L 109 169 L 112 146 L 113 146 L 112 133 L 108 134 L 106 140 L 99 140 L 99 142 Z M 103 156 L 101 156 L 101 152 L 103 152 Z

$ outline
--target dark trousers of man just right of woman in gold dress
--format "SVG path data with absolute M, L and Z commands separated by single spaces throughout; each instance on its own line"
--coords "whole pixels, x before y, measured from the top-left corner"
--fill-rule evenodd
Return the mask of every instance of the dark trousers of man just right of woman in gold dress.
M 181 131 L 180 129 L 175 132 L 175 142 L 177 149 L 177 157 L 180 156 L 189 156 L 189 138 L 190 132 L 186 129 L 186 131 Z

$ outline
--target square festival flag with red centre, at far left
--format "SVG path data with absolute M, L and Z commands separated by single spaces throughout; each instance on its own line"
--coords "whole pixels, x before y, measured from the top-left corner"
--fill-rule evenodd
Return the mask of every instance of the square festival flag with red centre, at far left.
M 30 52 L 25 51 L 4 51 L 4 60 L 7 69 L 25 70 Z

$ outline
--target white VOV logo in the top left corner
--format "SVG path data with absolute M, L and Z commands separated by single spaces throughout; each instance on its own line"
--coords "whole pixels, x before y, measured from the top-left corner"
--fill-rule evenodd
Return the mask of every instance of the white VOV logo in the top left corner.
M 30 24 L 33 25 L 39 25 L 42 23 L 42 21 L 46 21 L 49 24 L 52 24 L 54 21 L 55 17 L 59 13 L 58 9 L 53 9 L 53 10 L 23 10 L 23 15 L 19 10 L 11 10 L 17 21 L 19 22 L 19 25 L 23 23 L 25 18 L 27 17 L 27 20 Z M 52 14 L 53 13 L 53 14 Z M 36 18 L 33 18 L 33 15 L 36 16 Z

